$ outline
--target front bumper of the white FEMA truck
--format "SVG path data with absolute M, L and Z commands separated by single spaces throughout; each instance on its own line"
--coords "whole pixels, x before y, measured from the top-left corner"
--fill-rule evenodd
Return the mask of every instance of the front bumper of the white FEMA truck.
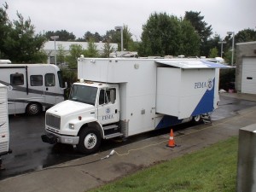
M 76 145 L 79 143 L 79 137 L 75 136 L 63 136 L 56 133 L 48 133 L 41 136 L 44 143 L 55 144 L 55 143 L 66 143 Z

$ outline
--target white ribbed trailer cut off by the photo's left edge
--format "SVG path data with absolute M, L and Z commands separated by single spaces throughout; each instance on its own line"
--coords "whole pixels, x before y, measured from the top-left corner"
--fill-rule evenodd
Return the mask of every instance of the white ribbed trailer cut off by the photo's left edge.
M 11 153 L 9 149 L 9 119 L 8 119 L 7 87 L 0 84 L 0 168 L 1 156 Z

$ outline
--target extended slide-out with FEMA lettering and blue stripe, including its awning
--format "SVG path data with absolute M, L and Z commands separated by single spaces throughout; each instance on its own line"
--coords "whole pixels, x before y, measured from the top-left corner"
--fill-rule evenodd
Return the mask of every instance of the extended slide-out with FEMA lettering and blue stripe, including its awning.
M 218 68 L 201 60 L 157 61 L 156 112 L 178 119 L 212 113 L 218 102 Z

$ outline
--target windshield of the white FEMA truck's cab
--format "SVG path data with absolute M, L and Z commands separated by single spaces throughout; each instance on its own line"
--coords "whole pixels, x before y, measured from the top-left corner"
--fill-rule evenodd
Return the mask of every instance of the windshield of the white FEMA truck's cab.
M 96 87 L 73 84 L 69 100 L 95 105 L 97 90 Z

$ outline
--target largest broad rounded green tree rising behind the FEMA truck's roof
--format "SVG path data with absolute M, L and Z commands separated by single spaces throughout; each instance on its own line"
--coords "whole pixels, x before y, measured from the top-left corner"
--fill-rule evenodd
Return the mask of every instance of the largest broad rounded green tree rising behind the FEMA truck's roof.
M 187 20 L 154 13 L 143 25 L 139 55 L 198 55 L 199 36 Z

